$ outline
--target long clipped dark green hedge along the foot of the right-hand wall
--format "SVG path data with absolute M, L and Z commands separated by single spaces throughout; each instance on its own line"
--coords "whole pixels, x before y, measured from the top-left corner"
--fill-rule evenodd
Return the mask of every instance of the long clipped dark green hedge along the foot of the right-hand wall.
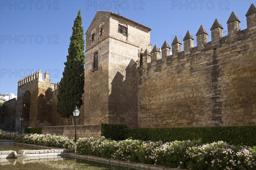
M 102 130 L 102 136 L 114 140 L 132 138 L 172 142 L 201 139 L 203 143 L 224 141 L 235 145 L 256 146 L 256 126 L 126 128 L 125 125 L 104 124 Z

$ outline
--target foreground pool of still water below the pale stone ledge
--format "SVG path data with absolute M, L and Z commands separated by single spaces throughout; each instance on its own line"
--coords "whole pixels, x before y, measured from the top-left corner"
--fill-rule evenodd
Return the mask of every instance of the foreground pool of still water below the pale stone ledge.
M 136 170 L 70 157 L 7 160 L 7 162 L 0 162 L 0 170 Z

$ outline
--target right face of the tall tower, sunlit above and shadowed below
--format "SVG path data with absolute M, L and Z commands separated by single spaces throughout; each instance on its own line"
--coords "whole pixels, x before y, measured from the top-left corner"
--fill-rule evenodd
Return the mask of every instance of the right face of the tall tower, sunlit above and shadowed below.
M 119 26 L 127 29 L 126 35 Z M 152 49 L 150 30 L 111 15 L 109 44 L 109 123 L 137 127 L 137 67 L 140 54 Z

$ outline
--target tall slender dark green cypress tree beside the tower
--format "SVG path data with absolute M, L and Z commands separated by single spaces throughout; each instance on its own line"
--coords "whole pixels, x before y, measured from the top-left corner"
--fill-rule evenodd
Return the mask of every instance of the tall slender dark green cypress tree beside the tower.
M 57 111 L 64 118 L 69 118 L 74 108 L 83 104 L 84 93 L 84 28 L 82 27 L 81 11 L 74 21 L 73 33 L 70 37 L 67 62 L 63 77 L 58 85 Z

